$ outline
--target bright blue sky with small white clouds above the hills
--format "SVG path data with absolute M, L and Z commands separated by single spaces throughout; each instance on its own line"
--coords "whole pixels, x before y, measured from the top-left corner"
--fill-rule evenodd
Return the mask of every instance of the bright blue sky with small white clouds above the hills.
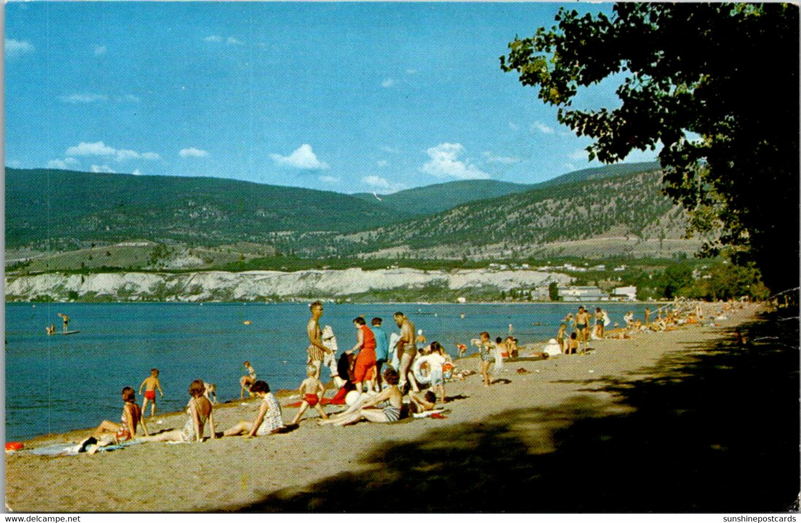
M 379 194 L 599 166 L 499 66 L 559 6 L 7 2 L 6 166 Z

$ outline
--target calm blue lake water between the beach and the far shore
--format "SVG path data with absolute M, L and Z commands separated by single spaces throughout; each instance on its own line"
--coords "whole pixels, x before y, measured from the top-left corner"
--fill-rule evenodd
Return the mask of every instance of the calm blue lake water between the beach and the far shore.
M 505 337 L 509 323 L 521 345 L 545 341 L 578 305 L 326 303 L 320 324 L 332 326 L 342 351 L 356 343 L 354 317 L 383 317 L 391 333 L 397 330 L 392 313 L 400 310 L 429 341 L 440 341 L 455 354 L 457 343 L 469 343 L 482 330 Z M 594 309 L 596 304 L 585 305 Z M 601 306 L 613 322 L 622 323 L 630 309 L 642 318 L 646 304 Z M 81 332 L 47 336 L 51 322 L 62 329 L 57 313 L 70 316 L 70 329 Z M 239 397 L 245 360 L 273 390 L 294 389 L 305 377 L 308 317 L 303 304 L 6 304 L 6 441 L 119 420 L 120 390 L 133 387 L 141 405 L 139 384 L 151 367 L 160 371 L 162 412 L 187 404 L 195 378 L 215 383 L 220 401 Z M 328 380 L 326 369 L 321 378 Z

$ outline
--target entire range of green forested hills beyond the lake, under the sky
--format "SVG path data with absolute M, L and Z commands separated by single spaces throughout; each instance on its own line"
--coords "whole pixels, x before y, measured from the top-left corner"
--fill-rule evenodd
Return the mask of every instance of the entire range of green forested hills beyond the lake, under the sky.
M 250 242 L 304 257 L 530 255 L 581 242 L 600 254 L 637 254 L 631 242 L 657 241 L 659 250 L 667 242 L 669 250 L 691 252 L 696 244 L 682 240 L 685 226 L 683 211 L 661 193 L 655 162 L 533 185 L 465 180 L 386 195 L 6 168 L 7 250 L 70 251 L 139 238 L 189 246 Z

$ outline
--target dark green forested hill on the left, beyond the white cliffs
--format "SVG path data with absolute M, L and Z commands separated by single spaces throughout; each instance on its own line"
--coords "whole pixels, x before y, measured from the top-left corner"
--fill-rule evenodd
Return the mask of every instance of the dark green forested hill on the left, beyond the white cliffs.
M 352 231 L 407 215 L 347 194 L 225 178 L 6 168 L 6 246 L 46 238 L 268 242 L 281 231 Z

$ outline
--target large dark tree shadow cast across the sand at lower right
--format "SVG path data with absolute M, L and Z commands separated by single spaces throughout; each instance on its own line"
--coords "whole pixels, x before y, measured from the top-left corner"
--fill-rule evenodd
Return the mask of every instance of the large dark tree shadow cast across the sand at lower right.
M 743 325 L 755 344 L 687 344 L 585 396 L 513 409 L 365 454 L 254 512 L 781 512 L 798 509 L 798 321 Z M 730 338 L 731 339 L 731 338 Z M 596 402 L 612 393 L 622 410 Z

